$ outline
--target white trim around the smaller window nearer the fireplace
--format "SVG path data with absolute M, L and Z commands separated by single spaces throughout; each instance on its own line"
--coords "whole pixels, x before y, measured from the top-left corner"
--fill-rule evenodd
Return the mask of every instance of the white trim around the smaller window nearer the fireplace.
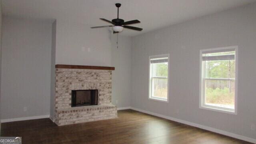
M 167 78 L 167 100 L 164 98 L 156 98 L 156 97 L 151 97 L 151 68 L 150 68 L 150 59 L 152 58 L 168 58 L 168 78 Z M 160 55 L 154 55 L 154 56 L 149 56 L 148 59 L 148 99 L 149 100 L 156 100 L 159 102 L 169 102 L 169 81 L 170 81 L 170 54 L 160 54 Z

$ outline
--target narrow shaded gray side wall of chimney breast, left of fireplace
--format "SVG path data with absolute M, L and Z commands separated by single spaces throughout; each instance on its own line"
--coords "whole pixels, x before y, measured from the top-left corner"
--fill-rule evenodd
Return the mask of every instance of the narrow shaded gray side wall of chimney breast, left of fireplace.
M 51 96 L 50 96 L 50 118 L 52 120 L 54 120 L 54 107 L 55 107 L 55 56 L 56 56 L 56 20 L 52 23 Z

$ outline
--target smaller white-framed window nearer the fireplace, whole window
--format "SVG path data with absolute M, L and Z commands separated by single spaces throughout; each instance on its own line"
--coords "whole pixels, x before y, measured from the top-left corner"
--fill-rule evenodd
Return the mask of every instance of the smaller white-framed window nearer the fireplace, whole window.
M 149 98 L 168 102 L 169 54 L 149 58 Z

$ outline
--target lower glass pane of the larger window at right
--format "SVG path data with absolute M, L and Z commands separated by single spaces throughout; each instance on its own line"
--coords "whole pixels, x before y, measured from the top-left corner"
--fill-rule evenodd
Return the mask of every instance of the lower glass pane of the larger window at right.
M 234 80 L 205 80 L 205 103 L 234 109 Z

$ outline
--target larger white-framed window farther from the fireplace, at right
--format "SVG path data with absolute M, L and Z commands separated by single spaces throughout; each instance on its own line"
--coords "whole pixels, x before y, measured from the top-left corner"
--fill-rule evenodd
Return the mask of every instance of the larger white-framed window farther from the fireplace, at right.
M 200 50 L 200 108 L 236 114 L 237 46 Z

